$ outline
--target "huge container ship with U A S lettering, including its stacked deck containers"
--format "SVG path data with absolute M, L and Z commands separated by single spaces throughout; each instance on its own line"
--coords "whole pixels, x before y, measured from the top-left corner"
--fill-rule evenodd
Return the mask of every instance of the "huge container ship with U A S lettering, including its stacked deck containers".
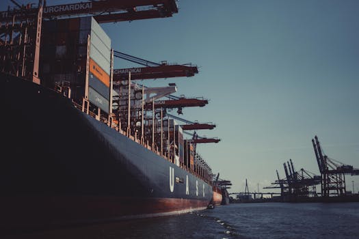
M 156 101 L 176 87 L 133 83 L 141 68 L 114 74 L 111 39 L 99 25 L 131 14 L 163 17 L 177 11 L 174 1 L 151 5 L 150 16 L 59 17 L 107 3 L 122 10 L 124 2 L 40 1 L 1 12 L 0 231 L 181 214 L 215 197 L 211 167 L 196 152 L 200 139 L 184 139 Z

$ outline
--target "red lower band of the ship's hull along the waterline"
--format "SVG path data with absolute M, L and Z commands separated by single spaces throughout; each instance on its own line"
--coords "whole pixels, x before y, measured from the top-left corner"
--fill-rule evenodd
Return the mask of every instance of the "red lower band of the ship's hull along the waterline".
M 209 201 L 131 197 L 0 197 L 0 229 L 40 229 L 181 214 Z

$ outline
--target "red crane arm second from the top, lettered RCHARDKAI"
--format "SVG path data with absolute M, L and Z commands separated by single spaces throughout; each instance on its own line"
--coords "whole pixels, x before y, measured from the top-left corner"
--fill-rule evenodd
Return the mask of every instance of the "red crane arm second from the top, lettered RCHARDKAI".
M 131 80 L 159 79 L 181 76 L 194 76 L 197 66 L 161 65 L 151 67 L 126 68 L 114 70 L 114 81 L 125 81 L 131 72 Z

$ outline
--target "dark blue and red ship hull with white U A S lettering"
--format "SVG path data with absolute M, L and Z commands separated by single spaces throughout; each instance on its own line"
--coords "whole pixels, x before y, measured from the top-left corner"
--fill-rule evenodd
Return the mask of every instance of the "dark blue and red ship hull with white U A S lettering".
M 68 98 L 12 76 L 0 84 L 0 229 L 163 216 L 211 201 L 210 184 Z

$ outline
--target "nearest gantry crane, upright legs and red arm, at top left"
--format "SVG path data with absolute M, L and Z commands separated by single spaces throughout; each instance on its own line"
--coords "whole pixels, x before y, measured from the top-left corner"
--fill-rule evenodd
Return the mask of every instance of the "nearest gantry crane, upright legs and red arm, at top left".
M 178 12 L 176 0 L 103 0 L 8 7 L 0 12 L 0 71 L 40 84 L 42 21 L 55 18 L 93 16 L 98 23 L 170 17 Z

